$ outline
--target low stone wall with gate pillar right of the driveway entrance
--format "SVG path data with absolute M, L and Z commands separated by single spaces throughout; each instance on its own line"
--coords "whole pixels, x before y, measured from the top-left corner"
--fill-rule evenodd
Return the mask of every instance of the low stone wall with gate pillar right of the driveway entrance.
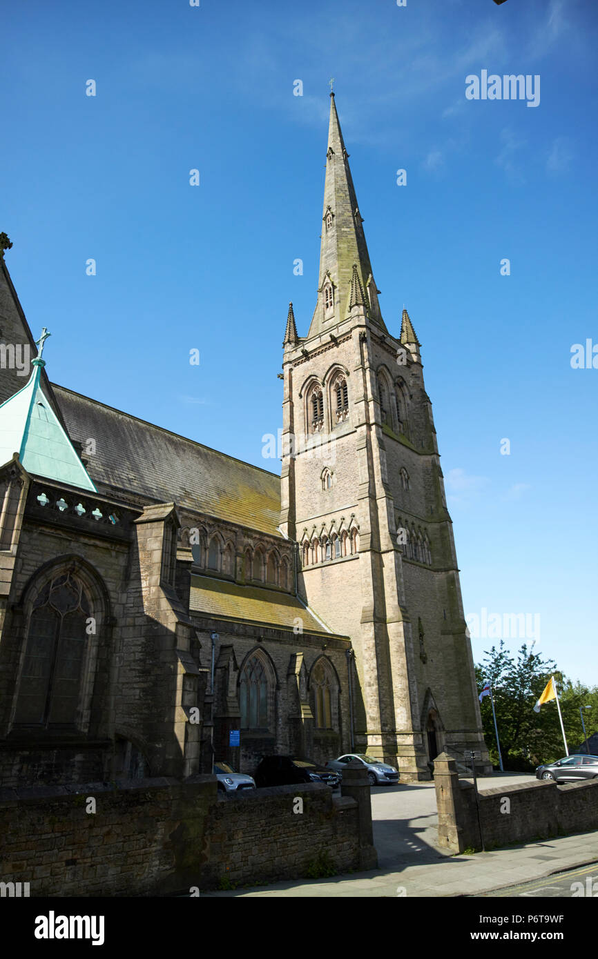
M 454 853 L 481 849 L 472 783 L 460 781 L 455 760 L 443 753 L 434 763 L 441 846 Z M 478 793 L 486 849 L 598 829 L 598 780 L 497 786 Z

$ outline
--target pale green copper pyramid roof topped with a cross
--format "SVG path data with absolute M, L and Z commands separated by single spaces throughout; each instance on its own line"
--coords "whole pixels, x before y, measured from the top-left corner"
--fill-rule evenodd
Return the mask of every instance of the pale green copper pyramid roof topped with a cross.
M 97 493 L 42 392 L 39 378 L 45 362 L 36 359 L 32 365 L 29 383 L 0 406 L 0 464 L 18 453 L 28 473 Z

